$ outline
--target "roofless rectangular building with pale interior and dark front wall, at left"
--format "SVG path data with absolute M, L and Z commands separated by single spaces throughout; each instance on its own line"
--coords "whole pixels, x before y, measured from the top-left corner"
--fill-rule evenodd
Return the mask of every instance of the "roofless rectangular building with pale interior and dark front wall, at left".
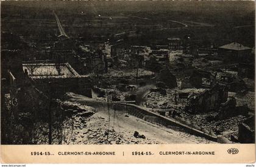
M 23 71 L 35 87 L 52 96 L 74 92 L 91 97 L 89 78 L 79 75 L 68 63 L 24 63 Z

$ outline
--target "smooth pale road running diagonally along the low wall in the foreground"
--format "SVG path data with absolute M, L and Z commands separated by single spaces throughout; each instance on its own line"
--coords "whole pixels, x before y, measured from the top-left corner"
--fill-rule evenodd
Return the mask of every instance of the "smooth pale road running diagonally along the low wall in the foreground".
M 127 134 L 133 134 L 134 131 L 138 131 L 147 138 L 168 144 L 214 143 L 213 141 L 209 141 L 202 137 L 196 137 L 185 132 L 174 131 L 173 129 L 166 128 L 165 126 L 148 123 L 140 118 L 127 114 L 126 111 L 114 111 L 113 109 L 110 109 L 108 112 L 107 104 L 95 104 L 93 103 L 95 100 L 83 97 L 82 95 L 72 94 L 72 98 L 69 99 L 69 101 L 76 101 L 77 103 L 86 104 L 96 108 L 98 112 L 96 112 L 93 117 L 105 118 L 104 121 L 109 121 L 109 126 L 115 129 L 116 132 L 127 132 Z M 129 115 L 129 117 L 125 117 L 125 115 Z M 91 123 L 93 123 L 93 121 L 94 120 L 91 119 Z

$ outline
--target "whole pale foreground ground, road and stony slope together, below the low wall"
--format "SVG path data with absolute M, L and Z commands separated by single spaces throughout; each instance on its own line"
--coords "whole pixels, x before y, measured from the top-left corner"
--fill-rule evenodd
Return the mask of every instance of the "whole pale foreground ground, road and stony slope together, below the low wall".
M 87 104 L 87 98 L 75 97 L 70 101 Z M 73 118 L 67 122 L 66 138 L 63 144 L 158 144 L 158 143 L 213 143 L 205 138 L 196 137 L 184 132 L 177 132 L 164 126 L 148 123 L 124 111 L 108 112 L 107 106 L 93 106 L 96 113 L 91 117 Z M 74 122 L 74 126 L 72 126 Z M 81 125 L 82 124 L 82 125 Z M 138 131 L 143 138 L 135 138 Z

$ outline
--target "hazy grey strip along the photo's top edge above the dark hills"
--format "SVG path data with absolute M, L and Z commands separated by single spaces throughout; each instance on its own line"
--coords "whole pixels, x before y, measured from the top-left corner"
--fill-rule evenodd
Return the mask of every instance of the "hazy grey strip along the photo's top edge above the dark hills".
M 115 13 L 121 11 L 183 11 L 204 15 L 229 11 L 244 15 L 255 10 L 254 1 L 2 1 L 1 5 Z

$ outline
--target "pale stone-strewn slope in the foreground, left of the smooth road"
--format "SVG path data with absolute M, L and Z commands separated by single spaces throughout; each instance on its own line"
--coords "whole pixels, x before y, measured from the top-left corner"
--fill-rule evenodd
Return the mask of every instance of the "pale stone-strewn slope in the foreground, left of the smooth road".
M 66 138 L 63 144 L 159 144 L 159 141 L 135 137 L 132 132 L 117 132 L 103 117 L 92 115 L 89 118 L 74 115 L 66 123 Z

